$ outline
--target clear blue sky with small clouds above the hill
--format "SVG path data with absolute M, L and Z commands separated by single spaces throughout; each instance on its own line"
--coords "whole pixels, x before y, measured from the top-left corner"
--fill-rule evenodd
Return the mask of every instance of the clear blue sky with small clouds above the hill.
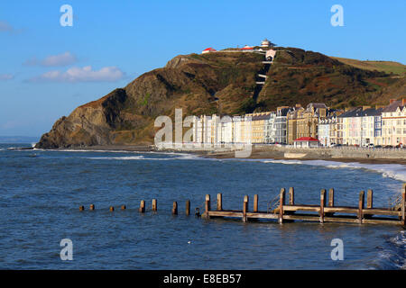
M 60 25 L 60 6 L 73 26 Z M 344 26 L 333 27 L 333 4 Z M 257 45 L 406 64 L 406 1 L 2 1 L 0 135 L 41 136 L 179 54 Z

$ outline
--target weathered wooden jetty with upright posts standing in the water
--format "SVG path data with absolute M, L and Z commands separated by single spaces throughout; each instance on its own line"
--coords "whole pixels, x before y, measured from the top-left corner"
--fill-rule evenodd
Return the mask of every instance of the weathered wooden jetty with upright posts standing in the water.
M 248 195 L 245 195 L 242 210 L 225 210 L 223 209 L 223 195 L 217 194 L 217 210 L 211 210 L 210 195 L 206 195 L 205 212 L 203 217 L 210 219 L 215 217 L 232 217 L 241 218 L 243 221 L 248 220 L 277 220 L 279 223 L 292 220 L 341 222 L 341 223 L 358 223 L 358 224 L 395 224 L 405 226 L 405 193 L 406 184 L 403 184 L 401 197 L 392 208 L 374 208 L 373 191 L 368 190 L 366 193 L 359 193 L 358 205 L 355 207 L 336 206 L 334 204 L 334 189 L 327 193 L 326 189 L 320 192 L 320 203 L 318 205 L 297 204 L 294 200 L 294 189 L 289 189 L 289 203 L 286 203 L 285 188 L 281 189 L 279 199 L 274 209 L 268 207 L 268 211 L 258 210 L 258 194 L 254 195 L 254 209 L 248 210 Z M 270 209 L 271 208 L 271 209 Z M 312 213 L 309 213 L 312 212 Z

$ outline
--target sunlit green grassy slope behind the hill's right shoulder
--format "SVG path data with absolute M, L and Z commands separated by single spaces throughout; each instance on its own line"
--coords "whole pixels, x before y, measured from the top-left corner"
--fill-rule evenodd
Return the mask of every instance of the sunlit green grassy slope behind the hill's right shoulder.
M 378 70 L 385 73 L 393 73 L 397 75 L 406 75 L 406 65 L 393 61 L 362 61 L 350 58 L 334 58 L 346 65 L 354 66 L 365 70 Z

